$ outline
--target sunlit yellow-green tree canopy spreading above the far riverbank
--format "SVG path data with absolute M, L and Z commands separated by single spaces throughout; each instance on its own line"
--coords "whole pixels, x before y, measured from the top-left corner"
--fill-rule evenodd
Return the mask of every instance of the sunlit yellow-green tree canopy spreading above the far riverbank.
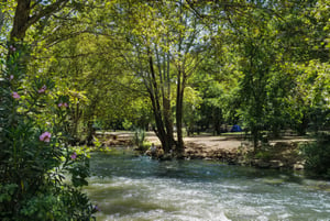
M 185 128 L 240 123 L 256 143 L 264 130 L 328 125 L 327 0 L 4 2 L 2 38 L 33 45 L 28 76 L 80 96 L 77 140 L 89 131 L 90 142 L 96 122 L 130 121 L 153 125 L 165 152 L 179 153 Z

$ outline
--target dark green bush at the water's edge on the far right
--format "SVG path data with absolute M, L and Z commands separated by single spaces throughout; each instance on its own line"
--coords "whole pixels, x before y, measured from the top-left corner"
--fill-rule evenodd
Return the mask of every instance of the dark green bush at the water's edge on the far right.
M 301 146 L 306 169 L 330 178 L 330 134 L 317 135 L 317 141 Z

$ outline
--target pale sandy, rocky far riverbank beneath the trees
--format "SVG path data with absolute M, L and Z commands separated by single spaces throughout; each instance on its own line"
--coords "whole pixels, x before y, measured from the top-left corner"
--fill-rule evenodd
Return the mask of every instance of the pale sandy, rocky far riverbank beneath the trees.
M 111 132 L 106 135 L 105 145 L 132 145 L 133 134 L 130 132 Z M 153 132 L 146 133 L 146 141 L 161 145 Z M 261 168 L 304 169 L 304 158 L 299 152 L 299 144 L 310 142 L 306 137 L 286 136 L 270 141 L 267 145 L 260 145 L 253 152 L 251 142 L 241 134 L 222 136 L 195 135 L 185 137 L 184 157 L 187 159 L 217 159 L 227 164 L 255 166 Z

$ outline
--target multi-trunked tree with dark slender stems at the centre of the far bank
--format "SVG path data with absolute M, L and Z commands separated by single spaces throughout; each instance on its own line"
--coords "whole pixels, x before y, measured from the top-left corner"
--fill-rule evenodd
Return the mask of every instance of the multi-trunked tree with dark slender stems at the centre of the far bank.
M 180 156 L 184 151 L 184 92 L 187 79 L 205 52 L 198 43 L 202 26 L 182 1 L 123 3 L 118 14 L 123 22 L 117 24 L 122 27 L 118 32 L 129 43 L 129 51 L 122 52 L 125 65 L 145 86 L 156 123 L 155 132 L 165 153 L 175 150 Z M 174 103 L 177 140 L 173 131 Z

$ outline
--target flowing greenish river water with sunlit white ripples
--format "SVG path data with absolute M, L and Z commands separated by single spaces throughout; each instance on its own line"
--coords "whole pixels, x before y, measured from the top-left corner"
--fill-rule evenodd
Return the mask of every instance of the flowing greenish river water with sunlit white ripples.
M 330 184 L 301 174 L 130 152 L 96 153 L 90 164 L 99 221 L 330 220 Z

